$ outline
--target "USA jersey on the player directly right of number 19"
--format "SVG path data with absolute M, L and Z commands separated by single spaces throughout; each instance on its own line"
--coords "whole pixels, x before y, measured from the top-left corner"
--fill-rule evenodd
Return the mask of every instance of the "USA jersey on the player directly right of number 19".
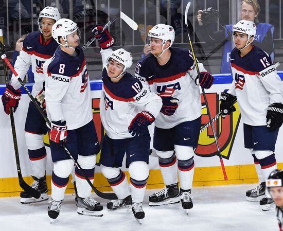
M 135 69 L 135 77 L 148 91 L 179 100 L 173 115 L 160 113 L 157 116 L 155 126 L 163 129 L 173 128 L 201 116 L 200 88 L 194 82 L 198 73 L 191 52 L 185 48 L 169 49 L 171 57 L 165 65 L 161 66 L 153 55 L 149 55 L 141 59 Z M 198 65 L 200 72 L 206 72 L 202 63 Z

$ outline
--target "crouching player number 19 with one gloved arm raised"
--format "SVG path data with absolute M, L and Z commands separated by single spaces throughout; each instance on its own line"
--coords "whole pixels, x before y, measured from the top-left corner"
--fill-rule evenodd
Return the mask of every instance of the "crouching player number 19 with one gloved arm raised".
M 162 100 L 150 93 L 127 70 L 133 63 L 132 54 L 125 49 L 112 51 L 113 39 L 108 30 L 97 25 L 93 33 L 102 48 L 102 92 L 100 117 L 106 131 L 101 149 L 101 171 L 118 200 L 107 203 L 115 210 L 132 206 L 134 217 L 145 217 L 142 207 L 149 176 L 148 161 L 150 134 L 148 126 L 160 112 Z M 105 42 L 111 44 L 104 46 Z M 103 49 L 104 48 L 104 49 Z M 126 174 L 120 169 L 126 152 L 126 168 L 129 168 L 130 186 Z

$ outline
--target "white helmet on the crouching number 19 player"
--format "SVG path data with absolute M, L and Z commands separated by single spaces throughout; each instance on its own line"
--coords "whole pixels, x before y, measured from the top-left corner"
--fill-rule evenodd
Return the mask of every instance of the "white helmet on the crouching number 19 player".
M 121 75 L 125 74 L 133 64 L 132 53 L 128 52 L 123 48 L 114 50 L 111 53 L 111 55 L 108 57 L 107 64 L 109 64 L 111 59 L 116 60 L 117 62 L 121 63 L 124 66 L 122 73 L 116 78 L 119 78 Z

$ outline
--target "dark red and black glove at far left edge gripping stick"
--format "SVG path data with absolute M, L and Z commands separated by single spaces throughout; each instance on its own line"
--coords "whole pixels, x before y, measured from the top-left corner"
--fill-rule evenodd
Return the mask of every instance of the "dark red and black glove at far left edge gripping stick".
M 10 114 L 10 108 L 13 107 L 13 111 L 16 111 L 17 106 L 19 105 L 19 100 L 21 99 L 21 90 L 15 90 L 15 88 L 8 84 L 6 90 L 2 96 L 2 102 L 4 106 L 4 111 L 6 114 Z

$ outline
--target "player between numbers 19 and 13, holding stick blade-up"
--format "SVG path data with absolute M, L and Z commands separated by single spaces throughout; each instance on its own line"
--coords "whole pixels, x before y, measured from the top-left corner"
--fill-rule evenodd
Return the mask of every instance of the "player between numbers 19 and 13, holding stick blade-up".
M 198 80 L 191 52 L 171 47 L 175 38 L 171 26 L 158 24 L 148 36 L 151 54 L 137 63 L 135 77 L 141 80 L 146 90 L 162 98 L 161 113 L 155 119 L 153 148 L 165 184 L 162 191 L 149 197 L 149 205 L 178 203 L 181 190 L 182 207 L 188 211 L 193 206 L 193 156 L 201 128 L 202 105 L 197 83 L 209 88 L 214 78 L 199 63 L 201 79 Z

